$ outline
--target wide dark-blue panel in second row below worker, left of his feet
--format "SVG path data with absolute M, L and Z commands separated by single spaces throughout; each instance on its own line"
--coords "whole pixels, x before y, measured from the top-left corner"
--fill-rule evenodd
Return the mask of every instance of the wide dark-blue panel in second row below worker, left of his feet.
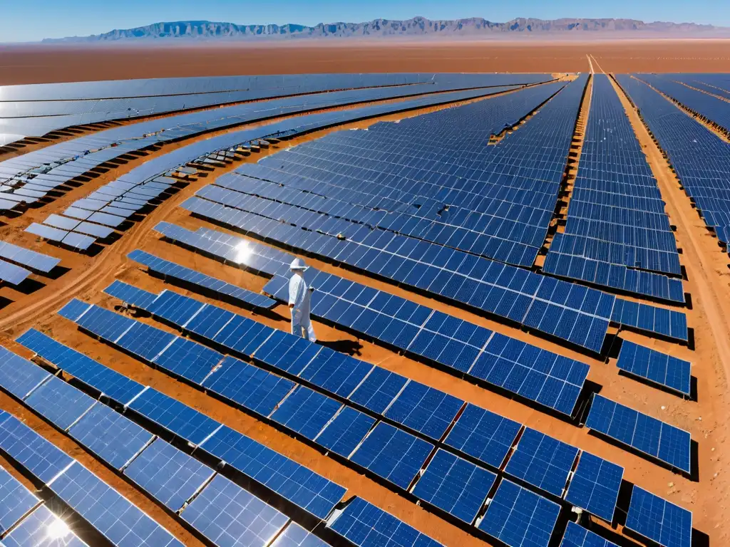
M 205 389 L 262 416 L 269 416 L 294 386 L 291 380 L 233 357 L 226 357 L 203 382 Z

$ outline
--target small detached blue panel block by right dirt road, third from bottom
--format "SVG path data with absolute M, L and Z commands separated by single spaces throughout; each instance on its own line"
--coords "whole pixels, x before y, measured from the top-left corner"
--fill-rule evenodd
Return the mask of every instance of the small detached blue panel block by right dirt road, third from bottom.
M 690 395 L 689 361 L 623 341 L 616 366 L 633 376 L 647 379 L 682 395 Z

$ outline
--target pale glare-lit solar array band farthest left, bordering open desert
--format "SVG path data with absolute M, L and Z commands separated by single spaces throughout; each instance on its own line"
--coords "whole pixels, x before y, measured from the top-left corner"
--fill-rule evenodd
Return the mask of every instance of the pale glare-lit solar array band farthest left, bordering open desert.
M 366 93 L 380 87 L 384 87 L 383 91 L 396 91 L 399 93 L 396 96 L 407 96 L 549 79 L 548 74 L 280 74 L 3 86 L 0 118 L 4 118 L 4 123 L 0 126 L 0 146 L 71 125 L 234 102 L 270 99 L 291 104 L 291 101 L 312 101 L 311 94 L 326 91 Z M 276 99 L 302 94 L 301 97 Z M 147 133 L 154 132 L 152 128 L 147 130 Z

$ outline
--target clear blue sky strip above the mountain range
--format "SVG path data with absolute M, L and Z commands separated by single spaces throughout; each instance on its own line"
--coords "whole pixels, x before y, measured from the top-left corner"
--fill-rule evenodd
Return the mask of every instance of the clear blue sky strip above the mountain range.
M 374 18 L 630 18 L 730 26 L 729 0 L 0 0 L 0 42 L 100 34 L 160 21 L 360 22 Z

